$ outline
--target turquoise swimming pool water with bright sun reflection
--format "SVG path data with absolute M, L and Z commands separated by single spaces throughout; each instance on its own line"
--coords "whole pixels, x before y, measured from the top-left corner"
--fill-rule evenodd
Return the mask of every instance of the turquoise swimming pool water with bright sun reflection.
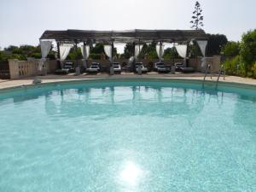
M 160 81 L 0 93 L 0 191 L 256 191 L 256 91 Z

